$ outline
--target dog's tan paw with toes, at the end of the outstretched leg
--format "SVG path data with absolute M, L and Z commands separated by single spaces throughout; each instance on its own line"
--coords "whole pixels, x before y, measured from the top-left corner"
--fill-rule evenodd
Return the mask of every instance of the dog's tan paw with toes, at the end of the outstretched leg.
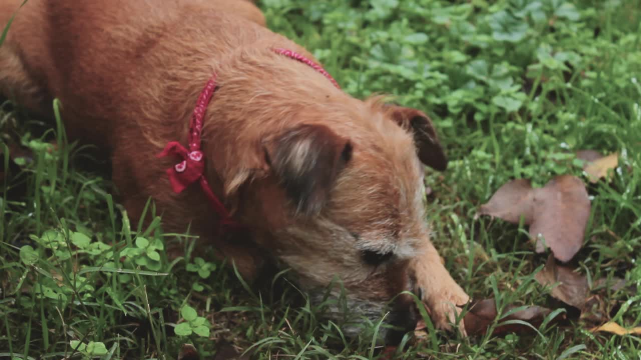
M 452 331 L 452 324 L 456 324 L 462 307 L 469 302 L 470 297 L 458 284 L 451 288 L 442 288 L 428 294 L 424 299 L 430 313 L 430 317 L 437 329 Z M 458 322 L 458 331 L 466 336 L 465 324 L 461 318 Z

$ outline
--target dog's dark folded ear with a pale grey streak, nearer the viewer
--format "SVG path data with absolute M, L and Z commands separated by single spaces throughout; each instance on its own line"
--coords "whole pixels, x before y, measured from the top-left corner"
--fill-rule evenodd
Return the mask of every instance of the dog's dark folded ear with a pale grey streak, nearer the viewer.
M 352 144 L 329 127 L 303 124 L 264 142 L 265 160 L 296 213 L 320 213 L 338 172 L 352 156 Z

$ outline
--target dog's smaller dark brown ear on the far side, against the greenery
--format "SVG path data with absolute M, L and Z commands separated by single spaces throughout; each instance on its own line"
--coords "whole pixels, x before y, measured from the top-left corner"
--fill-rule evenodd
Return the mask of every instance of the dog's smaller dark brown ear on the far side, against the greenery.
M 447 168 L 447 158 L 438 141 L 437 131 L 428 115 L 420 110 L 388 105 L 392 120 L 404 129 L 412 131 L 419 160 L 429 167 L 443 171 Z

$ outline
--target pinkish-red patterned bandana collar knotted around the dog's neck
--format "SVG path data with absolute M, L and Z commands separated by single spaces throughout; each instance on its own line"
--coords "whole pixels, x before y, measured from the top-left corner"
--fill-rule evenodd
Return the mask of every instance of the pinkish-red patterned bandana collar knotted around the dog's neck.
M 285 55 L 288 58 L 292 58 L 309 65 L 312 69 L 320 72 L 320 74 L 328 78 L 334 86 L 340 88 L 336 80 L 314 61 L 291 50 L 278 48 L 274 49 L 274 51 L 278 54 Z M 204 113 L 207 110 L 207 106 L 211 101 L 215 90 L 216 74 L 213 74 L 212 78 L 207 82 L 207 85 L 205 85 L 203 92 L 201 92 L 198 97 L 196 108 L 194 108 L 194 113 L 192 114 L 192 119 L 189 125 L 189 150 L 185 149 L 185 147 L 183 147 L 179 142 L 174 141 L 167 143 L 163 152 L 157 156 L 158 158 L 162 158 L 164 156 L 173 155 L 178 156 L 183 160 L 173 167 L 168 168 L 166 171 L 167 176 L 169 176 L 169 183 L 171 183 L 172 189 L 175 193 L 181 193 L 185 188 L 187 188 L 187 186 L 198 181 L 201 184 L 201 188 L 203 189 L 205 196 L 212 204 L 213 209 L 221 217 L 222 229 L 222 227 L 226 225 L 236 227 L 238 226 L 238 222 L 231 218 L 231 214 L 229 214 L 229 211 L 227 211 L 224 204 L 222 204 L 222 201 L 213 193 L 207 179 L 204 177 L 204 154 L 203 151 L 201 151 L 201 132 L 203 131 Z

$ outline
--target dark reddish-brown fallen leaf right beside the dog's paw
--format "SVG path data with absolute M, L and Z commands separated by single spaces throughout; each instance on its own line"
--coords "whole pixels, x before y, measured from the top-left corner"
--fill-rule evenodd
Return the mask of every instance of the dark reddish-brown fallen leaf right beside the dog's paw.
M 508 306 L 505 311 L 510 311 L 516 306 Z M 526 309 L 517 311 L 509 316 L 505 316 L 499 320 L 499 324 L 508 320 L 521 320 L 522 322 L 529 323 L 535 329 L 543 322 L 545 316 L 551 313 L 550 309 L 540 306 L 531 306 Z M 469 311 L 465 314 L 463 322 L 465 323 L 465 331 L 469 335 L 483 334 L 492 325 L 494 319 L 497 317 L 496 302 L 494 299 L 479 300 L 470 306 Z M 555 318 L 558 319 L 559 316 Z M 505 334 L 508 332 L 515 332 L 517 334 L 528 334 L 534 330 L 528 325 L 522 323 L 510 323 L 506 325 L 499 325 L 494 328 L 492 334 Z

